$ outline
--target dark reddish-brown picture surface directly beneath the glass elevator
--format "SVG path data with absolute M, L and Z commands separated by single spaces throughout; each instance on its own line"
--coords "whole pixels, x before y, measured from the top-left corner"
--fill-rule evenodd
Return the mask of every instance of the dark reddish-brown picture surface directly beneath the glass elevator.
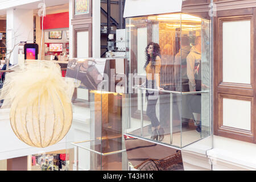
M 140 171 L 183 171 L 181 150 L 125 135 L 129 165 Z

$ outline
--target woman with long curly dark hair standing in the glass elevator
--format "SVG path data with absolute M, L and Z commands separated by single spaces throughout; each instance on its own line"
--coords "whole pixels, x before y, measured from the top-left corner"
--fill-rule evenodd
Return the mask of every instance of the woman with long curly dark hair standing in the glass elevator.
M 157 43 L 149 43 L 146 47 L 146 64 L 144 69 L 146 69 L 147 79 L 146 79 L 146 98 L 147 98 L 147 111 L 146 114 L 151 121 L 151 139 L 162 141 L 164 138 L 164 130 L 160 126 L 160 122 L 156 117 L 156 102 L 158 101 L 160 88 L 160 47 Z M 154 89 L 154 90 L 150 90 Z M 156 90 L 156 91 L 155 91 Z

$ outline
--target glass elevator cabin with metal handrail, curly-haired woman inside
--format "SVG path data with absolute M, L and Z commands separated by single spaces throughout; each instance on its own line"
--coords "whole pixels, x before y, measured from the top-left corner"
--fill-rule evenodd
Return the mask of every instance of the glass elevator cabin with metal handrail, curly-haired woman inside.
M 185 13 L 126 18 L 126 134 L 183 148 L 211 135 L 210 20 Z

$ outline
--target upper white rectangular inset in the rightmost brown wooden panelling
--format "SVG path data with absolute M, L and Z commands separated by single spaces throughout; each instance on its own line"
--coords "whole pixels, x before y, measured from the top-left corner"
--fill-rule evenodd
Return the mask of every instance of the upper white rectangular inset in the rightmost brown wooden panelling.
M 223 81 L 251 83 L 251 21 L 223 23 Z

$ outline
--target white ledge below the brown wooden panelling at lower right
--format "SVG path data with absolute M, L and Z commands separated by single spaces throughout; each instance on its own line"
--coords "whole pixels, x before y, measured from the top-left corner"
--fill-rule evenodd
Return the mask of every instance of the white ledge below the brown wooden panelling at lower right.
M 212 146 L 210 147 L 210 140 Z M 256 145 L 213 135 L 181 150 L 184 169 L 213 171 L 256 170 Z

